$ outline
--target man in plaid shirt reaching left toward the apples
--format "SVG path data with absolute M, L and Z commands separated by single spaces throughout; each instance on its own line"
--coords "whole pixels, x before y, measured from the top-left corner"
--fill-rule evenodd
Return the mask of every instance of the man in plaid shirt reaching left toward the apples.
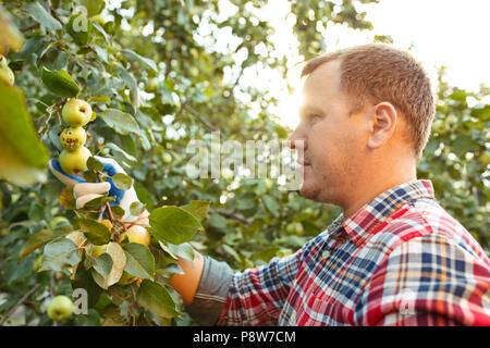
M 294 254 L 243 273 L 181 260 L 171 285 L 191 315 L 208 325 L 490 325 L 490 260 L 416 178 L 433 119 L 419 63 L 367 45 L 313 59 L 303 76 L 290 137 L 303 153 L 301 192 L 343 214 Z

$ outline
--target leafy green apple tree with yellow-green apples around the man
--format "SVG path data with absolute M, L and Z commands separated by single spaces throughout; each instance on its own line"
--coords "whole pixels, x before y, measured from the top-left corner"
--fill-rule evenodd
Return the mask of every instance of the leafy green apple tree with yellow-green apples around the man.
M 324 49 L 317 23 L 371 28 L 356 10 L 360 2 L 376 1 L 290 1 L 298 53 L 309 59 Z M 336 217 L 339 208 L 308 201 L 277 177 L 247 177 L 243 163 L 222 169 L 219 177 L 192 177 L 186 170 L 196 156 L 194 140 L 211 148 L 218 133 L 244 144 L 284 140 L 291 132 L 270 112 L 278 100 L 259 80 L 265 69 L 282 76 L 289 70 L 287 53 L 275 51 L 273 28 L 259 15 L 266 5 L 3 2 L 2 324 L 193 324 L 169 286 L 181 272 L 177 257 L 192 259 L 199 250 L 242 270 L 294 252 Z M 250 72 L 257 72 L 255 86 L 244 84 Z M 468 94 L 442 77 L 440 85 L 433 138 L 419 174 L 434 182 L 441 204 L 488 248 L 488 91 Z M 91 110 L 83 125 L 74 124 L 82 130 L 70 130 L 75 115 L 63 112 L 72 100 Z M 76 173 L 88 183 L 133 187 L 142 203 L 126 210 L 147 210 L 149 226 L 124 221 L 127 211 L 110 195 L 77 208 L 73 188 L 47 170 L 50 159 L 70 167 L 61 153 L 73 156 L 75 142 L 89 152 L 84 150 L 88 160 Z M 272 163 L 274 156 L 257 162 Z M 114 159 L 126 174 L 109 177 L 97 158 Z M 86 299 L 86 310 L 53 322 L 48 307 L 57 296 L 82 309 Z

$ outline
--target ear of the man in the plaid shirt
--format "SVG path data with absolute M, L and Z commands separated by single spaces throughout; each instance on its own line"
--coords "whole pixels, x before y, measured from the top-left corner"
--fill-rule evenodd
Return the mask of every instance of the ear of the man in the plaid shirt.
M 382 147 L 393 136 L 399 112 L 392 103 L 383 101 L 372 107 L 368 117 L 371 129 L 367 146 L 373 150 Z

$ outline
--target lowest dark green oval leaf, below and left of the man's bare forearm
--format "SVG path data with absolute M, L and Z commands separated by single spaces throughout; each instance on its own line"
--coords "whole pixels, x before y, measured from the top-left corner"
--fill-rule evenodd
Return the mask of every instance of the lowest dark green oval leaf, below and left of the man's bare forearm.
M 140 306 L 159 316 L 174 318 L 179 315 L 175 310 L 175 302 L 169 291 L 160 284 L 143 281 L 136 294 L 136 299 Z

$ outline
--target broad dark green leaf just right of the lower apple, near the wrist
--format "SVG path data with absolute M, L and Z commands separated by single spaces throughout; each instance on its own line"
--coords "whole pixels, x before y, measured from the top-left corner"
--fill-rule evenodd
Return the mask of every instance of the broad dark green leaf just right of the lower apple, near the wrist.
M 160 240 L 173 244 L 188 241 L 198 231 L 204 231 L 193 214 L 179 207 L 157 208 L 148 219 L 151 234 Z

